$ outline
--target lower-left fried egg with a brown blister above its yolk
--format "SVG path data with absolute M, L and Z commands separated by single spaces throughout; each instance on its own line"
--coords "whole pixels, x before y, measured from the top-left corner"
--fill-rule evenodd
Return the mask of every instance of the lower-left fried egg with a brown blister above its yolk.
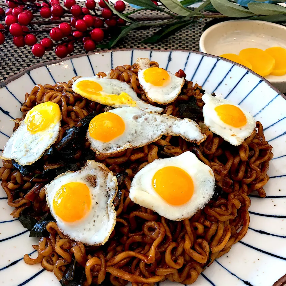
M 112 202 L 117 191 L 113 173 L 93 160 L 45 186 L 49 209 L 60 230 L 88 245 L 104 244 L 113 231 L 116 212 Z

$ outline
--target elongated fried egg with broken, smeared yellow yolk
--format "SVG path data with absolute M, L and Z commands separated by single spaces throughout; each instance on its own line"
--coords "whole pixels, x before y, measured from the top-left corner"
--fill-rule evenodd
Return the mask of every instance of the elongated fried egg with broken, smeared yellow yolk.
M 136 92 L 124 81 L 108 77 L 80 77 L 74 81 L 71 88 L 82 97 L 103 105 L 137 106 L 147 112 L 163 112 L 163 108 L 140 100 Z

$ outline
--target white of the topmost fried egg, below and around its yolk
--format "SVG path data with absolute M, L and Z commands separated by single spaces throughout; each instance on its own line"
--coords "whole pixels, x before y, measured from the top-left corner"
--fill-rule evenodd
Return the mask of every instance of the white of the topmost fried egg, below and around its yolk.
M 170 76 L 170 82 L 166 84 L 166 86 L 153 86 L 150 83 L 146 83 L 144 81 L 143 74 L 145 70 L 146 69 L 142 69 L 138 71 L 138 80 L 140 86 L 145 91 L 145 95 L 148 100 L 164 105 L 175 101 L 175 99 L 181 93 L 181 89 L 185 83 L 185 79 L 176 77 L 174 74 L 170 73 L 170 71 L 167 71 Z M 171 85 L 171 83 L 173 83 L 173 85 Z M 170 89 L 171 86 L 176 86 L 176 88 L 173 89 L 169 94 L 167 94 L 167 91 Z

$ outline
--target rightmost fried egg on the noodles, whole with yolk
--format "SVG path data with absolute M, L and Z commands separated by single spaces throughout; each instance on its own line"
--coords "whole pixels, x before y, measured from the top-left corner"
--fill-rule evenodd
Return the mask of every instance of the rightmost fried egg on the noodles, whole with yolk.
M 240 145 L 255 130 L 254 117 L 240 106 L 208 93 L 202 100 L 204 124 L 230 144 Z

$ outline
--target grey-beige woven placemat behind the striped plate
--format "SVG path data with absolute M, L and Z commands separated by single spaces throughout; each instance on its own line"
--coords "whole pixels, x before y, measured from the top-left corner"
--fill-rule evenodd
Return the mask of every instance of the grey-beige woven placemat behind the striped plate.
M 4 1 L 0 1 L 0 6 Z M 131 11 L 132 8 L 128 7 L 127 11 Z M 142 15 L 146 15 L 146 11 L 142 11 Z M 151 12 L 151 14 L 158 14 Z M 167 38 L 166 40 L 156 44 L 142 44 L 140 43 L 144 38 L 152 35 L 154 29 L 148 29 L 143 31 L 132 31 L 123 40 L 119 41 L 114 49 L 127 49 L 127 48 L 147 48 L 147 49 L 184 49 L 197 51 L 199 49 L 199 39 L 203 32 L 203 27 L 207 20 L 186 27 L 175 35 Z M 48 33 L 43 33 L 38 38 L 47 37 Z M 96 49 L 95 51 L 100 51 Z M 70 55 L 84 54 L 86 51 L 83 49 L 83 43 L 75 43 L 74 52 Z M 13 44 L 13 37 L 9 34 L 6 41 L 0 46 L 0 82 L 6 80 L 13 74 L 23 71 L 24 69 L 32 66 L 36 63 L 48 62 L 51 60 L 57 60 L 58 57 L 54 51 L 46 52 L 41 58 L 35 57 L 31 52 L 31 47 L 25 46 L 23 48 L 17 48 Z

